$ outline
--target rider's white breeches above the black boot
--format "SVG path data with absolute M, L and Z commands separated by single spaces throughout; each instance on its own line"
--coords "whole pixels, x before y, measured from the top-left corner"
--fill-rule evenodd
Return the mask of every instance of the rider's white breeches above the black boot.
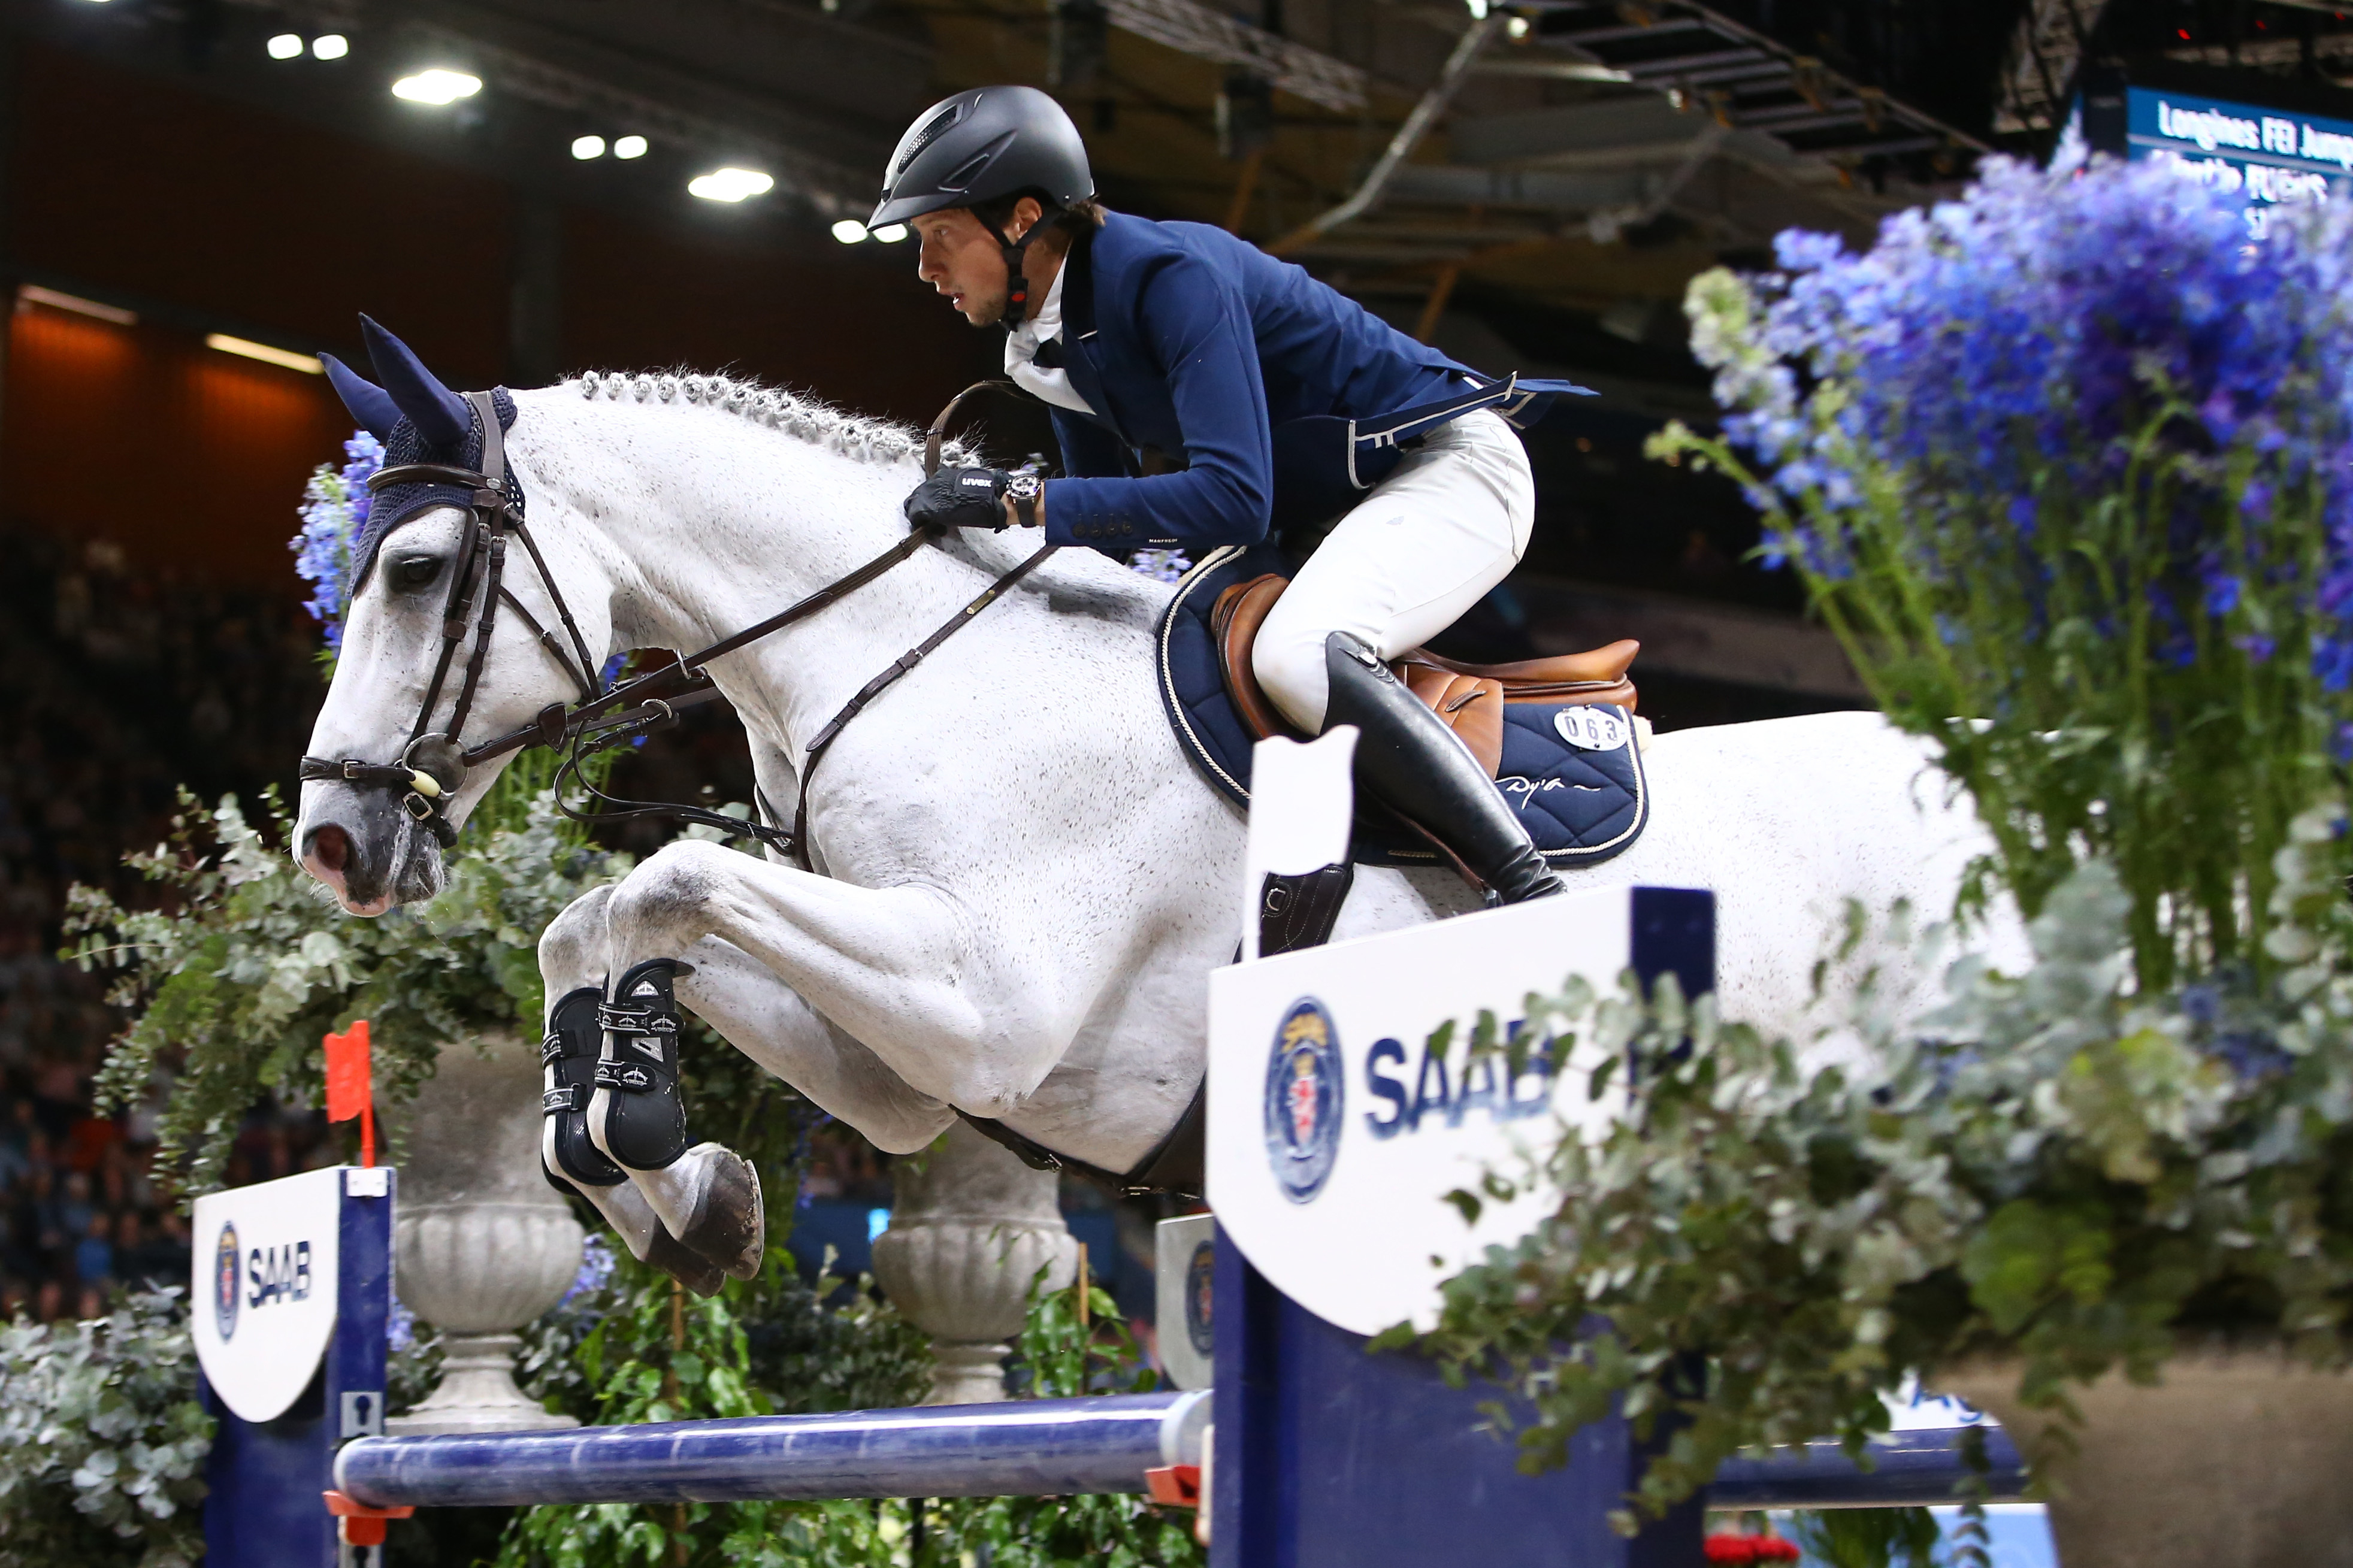
M 1527 551 L 1537 480 L 1492 410 L 1431 431 L 1299 567 L 1249 664 L 1282 713 L 1322 732 L 1325 638 L 1355 633 L 1384 659 L 1435 638 Z

